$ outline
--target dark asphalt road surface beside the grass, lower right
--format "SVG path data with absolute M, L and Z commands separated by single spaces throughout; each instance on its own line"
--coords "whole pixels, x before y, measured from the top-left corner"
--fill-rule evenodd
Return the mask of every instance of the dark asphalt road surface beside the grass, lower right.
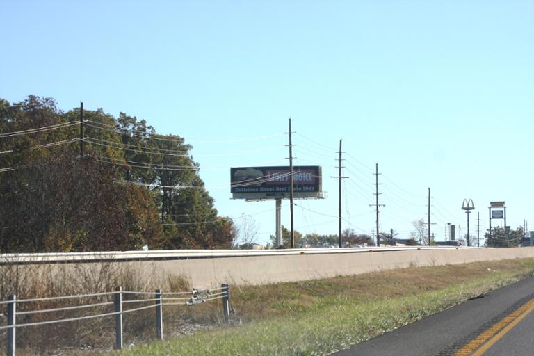
M 534 277 L 530 277 L 334 355 L 453 355 L 492 325 L 510 319 L 505 316 L 533 298 Z M 534 337 L 531 334 L 534 330 L 534 312 L 527 312 L 517 325 L 508 326 L 510 330 L 483 355 L 534 355 Z

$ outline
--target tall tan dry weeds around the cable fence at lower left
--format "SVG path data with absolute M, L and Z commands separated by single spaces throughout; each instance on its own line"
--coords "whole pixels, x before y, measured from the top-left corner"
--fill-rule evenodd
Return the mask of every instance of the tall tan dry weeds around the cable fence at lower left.
M 17 300 L 29 298 L 47 298 L 54 296 L 75 296 L 80 294 L 115 291 L 122 286 L 124 291 L 191 291 L 191 286 L 179 275 L 159 276 L 155 266 L 148 268 L 118 267 L 118 264 L 42 264 L 33 266 L 0 266 L 0 300 L 15 294 Z M 149 281 L 149 282 L 143 282 Z M 149 296 L 131 296 L 125 294 L 124 300 L 150 298 Z M 154 297 L 152 297 L 154 298 Z M 99 302 L 110 302 L 113 296 L 96 296 L 75 298 L 72 300 L 47 300 L 39 302 L 17 303 L 17 312 L 29 310 L 70 307 Z M 124 307 L 142 307 L 146 304 L 133 304 Z M 17 316 L 17 323 L 36 323 L 63 318 L 76 318 L 113 312 L 113 305 L 78 309 L 65 312 Z M 6 314 L 6 305 L 0 305 L 0 313 Z M 168 334 L 186 334 L 203 325 L 194 325 L 191 317 L 194 310 L 188 307 L 167 307 L 164 322 Z M 155 311 L 147 309 L 141 312 L 124 314 L 124 343 L 147 342 L 156 334 Z M 0 325 L 6 323 L 5 316 L 0 317 Z M 72 321 L 54 325 L 19 327 L 17 329 L 18 355 L 70 355 L 76 350 L 111 350 L 115 343 L 114 317 L 93 318 L 84 321 Z M 0 331 L 0 355 L 6 349 L 6 331 Z

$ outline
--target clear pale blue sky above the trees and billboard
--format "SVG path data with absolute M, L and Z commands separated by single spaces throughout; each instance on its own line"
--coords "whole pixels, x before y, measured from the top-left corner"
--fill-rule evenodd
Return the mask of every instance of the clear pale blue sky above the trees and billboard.
M 533 1 L 3 1 L 0 97 L 83 100 L 145 118 L 193 145 L 221 215 L 248 214 L 264 243 L 274 202 L 231 200 L 229 168 L 323 166 L 325 200 L 296 202 L 303 233 L 337 233 L 339 140 L 348 176 L 343 227 L 407 236 L 426 218 L 481 229 L 489 201 L 534 230 Z M 289 204 L 282 207 L 289 226 Z M 250 218 L 248 219 L 250 220 Z M 476 213 L 471 234 L 476 233 Z M 500 224 L 499 221 L 496 221 Z M 457 232 L 458 234 L 458 232 Z

